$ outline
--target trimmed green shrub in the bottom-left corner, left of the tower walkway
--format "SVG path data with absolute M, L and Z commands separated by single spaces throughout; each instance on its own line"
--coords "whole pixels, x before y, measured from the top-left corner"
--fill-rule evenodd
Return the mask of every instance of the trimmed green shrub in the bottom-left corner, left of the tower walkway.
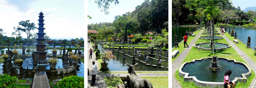
M 10 75 L 0 75 L 0 88 L 16 88 L 18 84 L 17 77 L 11 77 Z

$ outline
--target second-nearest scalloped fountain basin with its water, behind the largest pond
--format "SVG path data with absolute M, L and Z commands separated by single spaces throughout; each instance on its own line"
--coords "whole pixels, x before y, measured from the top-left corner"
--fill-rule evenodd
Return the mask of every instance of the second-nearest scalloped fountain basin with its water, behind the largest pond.
M 215 45 L 214 46 L 214 51 L 220 51 L 220 50 L 230 48 L 230 45 L 225 44 L 225 43 L 215 42 L 214 45 Z M 194 47 L 198 48 L 198 50 L 206 50 L 206 51 L 212 50 L 212 47 L 210 46 L 210 42 L 197 43 L 197 44 L 194 45 Z

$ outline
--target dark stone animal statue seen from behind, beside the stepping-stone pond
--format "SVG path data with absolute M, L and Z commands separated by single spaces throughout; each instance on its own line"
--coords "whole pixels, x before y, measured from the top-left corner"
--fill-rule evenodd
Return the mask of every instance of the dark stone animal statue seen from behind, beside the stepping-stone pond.
M 148 81 L 147 79 L 142 79 L 139 75 L 136 74 L 134 67 L 137 65 L 138 63 L 134 64 L 134 65 L 129 65 L 127 63 L 127 65 L 129 66 L 128 73 L 130 73 L 130 75 L 127 75 L 127 82 L 124 82 L 124 87 L 125 88 L 153 88 L 153 85 L 150 81 Z

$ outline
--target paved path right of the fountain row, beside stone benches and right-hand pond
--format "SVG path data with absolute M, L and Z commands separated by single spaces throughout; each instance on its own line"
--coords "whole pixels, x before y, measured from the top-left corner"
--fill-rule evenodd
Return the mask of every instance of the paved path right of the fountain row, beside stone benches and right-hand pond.
M 220 33 L 219 29 L 217 29 L 217 31 Z M 226 32 L 226 33 L 228 33 L 228 32 Z M 241 57 L 245 60 L 245 62 L 247 62 L 247 64 L 251 67 L 251 69 L 254 72 L 256 72 L 256 63 L 248 55 L 246 55 L 240 48 L 238 48 L 237 45 L 235 45 L 235 43 L 233 41 L 229 40 L 225 35 L 222 35 L 222 36 L 237 51 L 237 53 L 239 55 L 243 55 Z M 246 45 L 245 45 L 245 47 L 246 47 Z M 256 80 L 255 80 L 255 78 L 252 80 L 252 83 L 250 84 L 250 86 L 248 88 L 256 88 Z

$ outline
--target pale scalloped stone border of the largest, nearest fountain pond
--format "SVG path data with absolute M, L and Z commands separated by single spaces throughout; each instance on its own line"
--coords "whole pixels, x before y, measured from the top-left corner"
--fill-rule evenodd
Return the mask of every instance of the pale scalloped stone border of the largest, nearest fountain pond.
M 189 64 L 189 63 L 193 63 L 195 61 L 201 61 L 201 60 L 204 60 L 204 59 L 212 59 L 212 57 L 203 57 L 203 58 L 200 58 L 200 59 L 193 59 L 192 61 L 189 61 L 189 62 L 184 62 L 179 67 L 179 76 L 180 77 L 184 77 L 184 82 L 194 82 L 195 85 L 197 85 L 199 87 L 210 87 L 210 88 L 220 87 L 220 88 L 223 88 L 224 87 L 223 82 L 200 81 L 195 76 L 188 76 L 189 73 L 182 72 L 182 68 L 184 67 L 184 65 Z M 247 64 L 245 64 L 243 62 L 238 62 L 238 61 L 233 60 L 233 59 L 228 59 L 228 58 L 225 58 L 225 57 L 217 57 L 217 59 L 225 59 L 227 61 L 233 61 L 234 63 L 242 64 L 242 65 L 244 65 L 247 68 L 247 70 L 248 70 L 247 73 L 242 74 L 242 77 L 235 77 L 235 79 L 232 80 L 232 82 L 235 82 L 235 84 L 237 84 L 237 82 L 245 82 L 246 83 L 247 82 L 247 78 L 251 76 L 252 70 L 250 69 L 250 67 Z

